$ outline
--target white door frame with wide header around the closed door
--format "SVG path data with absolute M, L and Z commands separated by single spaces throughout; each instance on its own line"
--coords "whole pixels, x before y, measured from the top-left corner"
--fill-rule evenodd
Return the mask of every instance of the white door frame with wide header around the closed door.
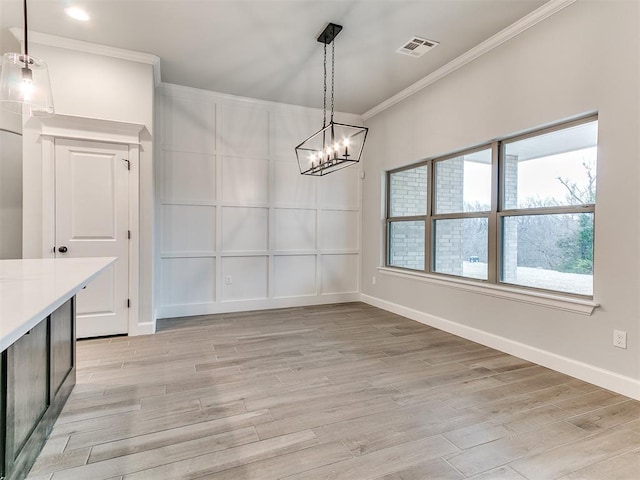
M 128 333 L 138 332 L 140 312 L 140 133 L 144 125 L 115 122 L 70 115 L 55 115 L 41 119 L 42 142 L 42 258 L 55 256 L 55 141 L 56 139 L 117 143 L 128 146 L 129 165 L 129 299 Z

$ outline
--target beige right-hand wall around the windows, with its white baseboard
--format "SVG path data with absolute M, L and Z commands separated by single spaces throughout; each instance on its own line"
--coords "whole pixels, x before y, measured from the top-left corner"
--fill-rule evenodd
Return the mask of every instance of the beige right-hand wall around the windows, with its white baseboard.
M 363 298 L 640 398 L 639 9 L 579 0 L 366 122 Z M 601 306 L 591 316 L 377 270 L 385 170 L 593 111 Z M 612 346 L 614 328 L 627 332 L 626 350 Z

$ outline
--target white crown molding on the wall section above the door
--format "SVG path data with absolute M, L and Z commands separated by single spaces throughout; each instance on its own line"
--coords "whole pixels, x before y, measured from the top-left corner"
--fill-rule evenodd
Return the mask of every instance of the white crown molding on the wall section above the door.
M 23 29 L 12 27 L 9 29 L 11 34 L 22 43 Z M 128 60 L 130 62 L 145 63 L 153 67 L 153 78 L 155 85 L 160 85 L 162 81 L 160 73 L 160 57 L 151 53 L 135 52 L 124 48 L 109 47 L 98 43 L 85 42 L 75 40 L 73 38 L 59 37 L 48 33 L 33 32 L 29 30 L 29 42 L 40 45 L 48 45 L 50 47 L 66 48 L 67 50 L 75 50 L 77 52 L 91 53 L 94 55 L 102 55 L 104 57 L 118 58 L 120 60 Z

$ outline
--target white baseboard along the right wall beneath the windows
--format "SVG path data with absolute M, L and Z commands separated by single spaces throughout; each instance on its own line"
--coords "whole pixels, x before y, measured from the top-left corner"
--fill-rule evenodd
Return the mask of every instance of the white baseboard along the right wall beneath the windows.
M 424 313 L 412 308 L 404 307 L 396 303 L 388 302 L 377 297 L 362 294 L 364 303 L 381 308 L 388 312 L 402 315 L 411 320 L 429 325 L 431 327 L 452 333 L 476 343 L 495 348 L 501 352 L 514 355 L 543 367 L 551 368 L 558 372 L 570 375 L 585 382 L 598 385 L 602 388 L 640 400 L 640 380 L 620 375 L 610 370 L 605 370 L 595 365 L 590 365 L 572 358 L 564 357 L 540 348 L 532 347 L 524 343 L 516 342 L 505 337 L 500 337 L 477 328 L 461 325 L 435 315 Z

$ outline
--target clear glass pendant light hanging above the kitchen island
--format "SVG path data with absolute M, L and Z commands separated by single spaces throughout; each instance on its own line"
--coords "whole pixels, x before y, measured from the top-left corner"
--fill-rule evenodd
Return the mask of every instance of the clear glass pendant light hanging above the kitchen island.
M 55 113 L 47 64 L 29 55 L 27 0 L 23 2 L 24 53 L 5 53 L 0 72 L 0 107 L 13 113 L 46 117 Z

